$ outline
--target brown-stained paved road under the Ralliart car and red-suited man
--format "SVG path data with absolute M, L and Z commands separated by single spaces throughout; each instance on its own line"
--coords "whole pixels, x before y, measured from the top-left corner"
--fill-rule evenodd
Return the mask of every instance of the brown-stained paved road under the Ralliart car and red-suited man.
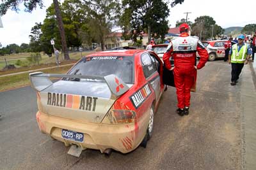
M 208 62 L 198 80 L 186 117 L 175 113 L 175 89 L 164 93 L 147 148 L 110 157 L 85 150 L 79 159 L 39 132 L 30 87 L 0 92 L 0 169 L 241 169 L 241 82 L 230 86 L 222 60 Z

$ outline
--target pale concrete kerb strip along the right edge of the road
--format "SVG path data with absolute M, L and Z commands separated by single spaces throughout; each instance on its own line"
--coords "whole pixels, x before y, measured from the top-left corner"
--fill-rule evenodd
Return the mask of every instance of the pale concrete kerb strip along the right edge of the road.
M 241 138 L 243 169 L 255 169 L 256 162 L 256 89 L 255 70 L 244 66 L 241 75 Z

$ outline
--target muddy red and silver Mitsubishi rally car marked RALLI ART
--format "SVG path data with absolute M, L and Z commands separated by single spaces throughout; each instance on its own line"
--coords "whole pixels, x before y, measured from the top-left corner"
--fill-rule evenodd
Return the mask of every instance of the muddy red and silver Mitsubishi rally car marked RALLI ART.
M 147 50 L 93 53 L 67 74 L 31 73 L 40 131 L 71 145 L 77 157 L 86 148 L 109 154 L 145 146 L 164 92 L 162 74 L 163 62 Z

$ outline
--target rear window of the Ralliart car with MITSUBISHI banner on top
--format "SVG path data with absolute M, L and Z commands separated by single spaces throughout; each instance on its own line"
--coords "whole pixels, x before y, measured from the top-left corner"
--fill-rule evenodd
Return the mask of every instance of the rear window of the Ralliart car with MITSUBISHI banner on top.
M 133 83 L 134 57 L 100 56 L 84 57 L 72 67 L 68 74 L 107 76 L 115 74 L 125 83 Z

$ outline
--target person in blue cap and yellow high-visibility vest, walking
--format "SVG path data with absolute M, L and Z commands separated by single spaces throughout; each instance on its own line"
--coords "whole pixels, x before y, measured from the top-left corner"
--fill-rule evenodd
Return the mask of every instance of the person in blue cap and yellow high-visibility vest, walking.
M 252 54 L 252 50 L 244 43 L 244 38 L 243 34 L 238 36 L 238 43 L 230 48 L 228 55 L 228 64 L 231 63 L 232 68 L 230 85 L 236 85 L 244 64 L 248 63 L 248 59 Z

